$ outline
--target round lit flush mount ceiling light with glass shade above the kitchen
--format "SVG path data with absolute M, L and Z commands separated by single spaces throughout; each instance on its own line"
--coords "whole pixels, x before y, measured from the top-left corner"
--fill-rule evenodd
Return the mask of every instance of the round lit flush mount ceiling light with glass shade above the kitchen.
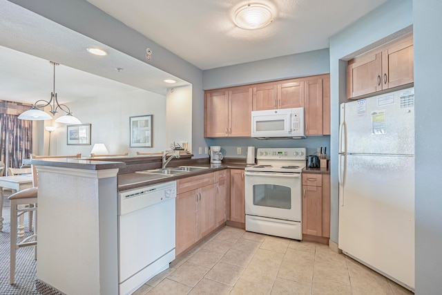
M 235 12 L 236 26 L 256 30 L 264 28 L 273 21 L 273 15 L 269 7 L 262 4 L 249 4 L 242 6 Z

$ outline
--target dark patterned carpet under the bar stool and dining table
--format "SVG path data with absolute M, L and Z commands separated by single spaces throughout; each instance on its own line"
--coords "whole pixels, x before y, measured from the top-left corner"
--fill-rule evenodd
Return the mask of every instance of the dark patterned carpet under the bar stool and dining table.
M 28 295 L 39 294 L 35 289 L 37 260 L 34 259 L 34 247 L 23 247 L 17 250 L 15 267 L 15 284 L 9 283 L 10 258 L 10 206 L 5 196 L 3 205 L 3 231 L 0 231 L 0 294 Z M 32 235 L 29 230 L 28 213 L 25 214 L 25 237 Z

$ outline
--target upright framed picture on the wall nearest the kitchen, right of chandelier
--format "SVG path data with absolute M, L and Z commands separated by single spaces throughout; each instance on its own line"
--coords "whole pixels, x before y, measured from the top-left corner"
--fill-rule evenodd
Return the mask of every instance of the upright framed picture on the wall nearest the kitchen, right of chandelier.
M 129 117 L 131 147 L 152 147 L 152 115 Z

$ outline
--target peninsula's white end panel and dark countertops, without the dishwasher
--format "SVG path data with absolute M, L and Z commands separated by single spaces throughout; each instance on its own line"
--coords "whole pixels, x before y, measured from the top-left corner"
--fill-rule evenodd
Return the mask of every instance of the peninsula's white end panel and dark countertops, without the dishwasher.
M 226 168 L 191 155 L 173 160 L 173 166 L 207 169 L 176 176 L 135 173 L 162 164 L 161 156 L 138 155 L 27 162 L 35 164 L 39 178 L 36 286 L 41 294 L 118 294 L 118 192 Z

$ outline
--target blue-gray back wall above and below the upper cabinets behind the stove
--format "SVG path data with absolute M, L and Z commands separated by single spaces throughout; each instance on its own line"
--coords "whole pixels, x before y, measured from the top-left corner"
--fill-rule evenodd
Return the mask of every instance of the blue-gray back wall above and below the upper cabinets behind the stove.
M 329 50 L 327 48 L 286 55 L 272 59 L 253 61 L 234 66 L 213 68 L 202 72 L 204 90 L 276 81 L 296 77 L 306 77 L 329 73 Z M 247 146 L 258 147 L 306 147 L 307 154 L 316 148 L 327 146 L 330 137 L 309 136 L 304 140 L 256 140 L 253 138 L 206 138 L 208 146 L 221 146 L 224 157 L 246 158 Z M 241 147 L 238 155 L 237 148 Z

